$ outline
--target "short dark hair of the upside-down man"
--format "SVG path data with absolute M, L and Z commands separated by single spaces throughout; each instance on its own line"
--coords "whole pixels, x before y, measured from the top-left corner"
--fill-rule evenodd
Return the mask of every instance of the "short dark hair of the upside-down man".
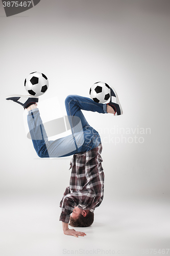
M 70 217 L 69 225 L 72 227 L 89 227 L 93 221 L 94 213 L 89 211 L 85 217 L 82 214 L 80 214 L 76 219 Z

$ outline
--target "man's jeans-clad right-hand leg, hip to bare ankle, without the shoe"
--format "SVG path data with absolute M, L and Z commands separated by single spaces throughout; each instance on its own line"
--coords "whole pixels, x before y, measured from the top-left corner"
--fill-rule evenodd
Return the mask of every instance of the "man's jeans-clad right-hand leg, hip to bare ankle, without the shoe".
M 83 153 L 99 146 L 100 135 L 88 124 L 81 110 L 105 114 L 108 113 L 107 104 L 96 103 L 92 99 L 78 95 L 69 95 L 65 99 L 65 107 L 77 151 Z

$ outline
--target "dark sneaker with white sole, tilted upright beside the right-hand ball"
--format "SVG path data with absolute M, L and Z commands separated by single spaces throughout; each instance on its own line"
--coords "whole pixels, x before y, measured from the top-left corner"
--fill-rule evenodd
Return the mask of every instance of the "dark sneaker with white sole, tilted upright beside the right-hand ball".
M 123 114 L 122 106 L 120 105 L 120 102 L 118 100 L 117 93 L 112 87 L 110 87 L 110 102 L 107 103 L 107 105 L 110 105 L 115 111 L 114 116 L 119 116 Z

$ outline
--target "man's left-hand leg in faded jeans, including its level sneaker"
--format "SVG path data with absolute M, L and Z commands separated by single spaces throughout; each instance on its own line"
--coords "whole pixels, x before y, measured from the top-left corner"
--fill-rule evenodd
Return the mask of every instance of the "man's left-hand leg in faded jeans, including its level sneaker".
M 28 125 L 34 148 L 39 157 L 61 157 L 77 153 L 72 135 L 55 141 L 48 141 L 39 110 L 38 97 L 32 95 L 10 95 L 6 97 L 28 110 Z

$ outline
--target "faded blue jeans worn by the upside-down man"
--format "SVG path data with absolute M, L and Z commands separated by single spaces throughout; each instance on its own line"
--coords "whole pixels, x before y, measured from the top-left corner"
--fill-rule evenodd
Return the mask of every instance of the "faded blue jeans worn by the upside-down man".
M 85 119 L 81 110 L 107 113 L 107 105 L 78 95 L 65 99 L 65 108 L 72 134 L 57 140 L 48 140 L 39 110 L 28 112 L 28 125 L 37 155 L 41 158 L 65 157 L 83 153 L 101 144 L 101 138 Z

